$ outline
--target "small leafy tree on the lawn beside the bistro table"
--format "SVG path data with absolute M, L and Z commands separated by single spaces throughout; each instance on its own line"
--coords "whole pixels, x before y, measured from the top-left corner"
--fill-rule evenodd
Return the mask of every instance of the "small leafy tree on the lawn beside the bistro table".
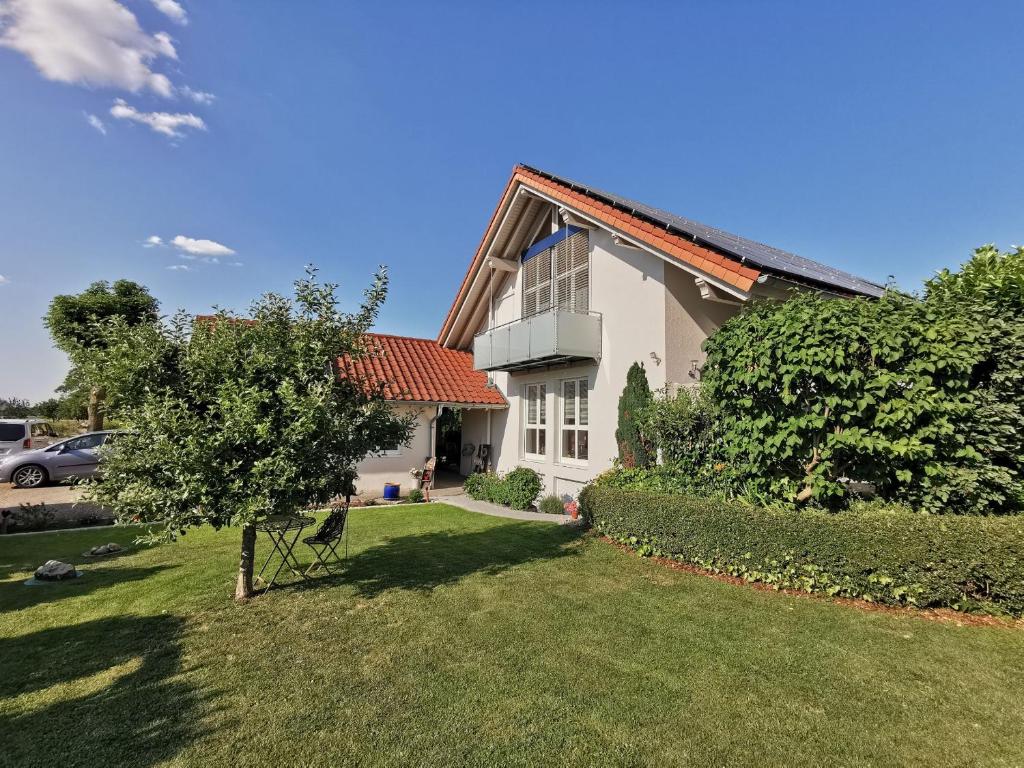
M 88 497 L 162 539 L 240 526 L 238 599 L 253 593 L 260 520 L 350 492 L 357 462 L 410 438 L 413 417 L 342 365 L 370 353 L 386 272 L 355 313 L 338 310 L 336 290 L 310 269 L 294 301 L 267 294 L 244 319 L 106 325 L 102 384 L 119 392 L 112 413 L 126 431 Z

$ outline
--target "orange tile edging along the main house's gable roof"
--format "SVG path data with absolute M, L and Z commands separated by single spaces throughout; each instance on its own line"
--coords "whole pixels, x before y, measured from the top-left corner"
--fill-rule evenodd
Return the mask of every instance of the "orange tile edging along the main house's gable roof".
M 470 262 L 469 269 L 466 270 L 466 276 L 463 278 L 462 285 L 459 287 L 459 293 L 452 307 L 449 309 L 447 315 L 444 317 L 441 331 L 437 335 L 438 341 L 444 338 L 455 322 L 456 310 L 465 299 L 470 283 L 472 282 L 472 276 L 483 259 L 488 236 L 498 220 L 498 214 L 505 208 L 506 201 L 514 190 L 517 182 L 543 193 L 560 203 L 564 203 L 569 208 L 574 208 L 586 216 L 597 219 L 624 234 L 635 238 L 679 261 L 694 266 L 731 286 L 735 286 L 741 291 L 750 291 L 754 287 L 754 282 L 761 276 L 760 270 L 741 264 L 738 259 L 697 245 L 667 229 L 656 227 L 639 216 L 631 215 L 592 196 L 578 191 L 567 184 L 546 178 L 525 166 L 517 165 L 512 169 L 512 176 L 509 178 L 508 184 L 505 185 L 501 202 L 490 217 L 490 222 L 487 224 L 486 230 L 484 230 L 483 239 L 476 249 L 476 254 Z

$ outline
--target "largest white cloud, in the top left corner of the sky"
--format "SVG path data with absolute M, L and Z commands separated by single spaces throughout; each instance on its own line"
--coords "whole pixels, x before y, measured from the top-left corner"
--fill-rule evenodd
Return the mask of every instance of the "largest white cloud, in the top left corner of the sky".
M 146 34 L 117 0 L 0 0 L 0 46 L 28 56 L 47 80 L 174 95 L 152 69 L 177 59 L 170 36 Z

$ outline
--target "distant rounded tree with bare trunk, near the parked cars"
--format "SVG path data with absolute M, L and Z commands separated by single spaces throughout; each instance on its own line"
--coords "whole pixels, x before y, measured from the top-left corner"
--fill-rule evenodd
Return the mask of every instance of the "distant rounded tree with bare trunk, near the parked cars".
M 89 429 L 103 428 L 106 391 L 99 384 L 105 365 L 104 323 L 119 317 L 128 327 L 154 325 L 160 304 L 144 286 L 128 280 L 93 283 L 80 294 L 55 296 L 43 318 L 53 343 L 71 358 L 65 386 L 88 391 Z

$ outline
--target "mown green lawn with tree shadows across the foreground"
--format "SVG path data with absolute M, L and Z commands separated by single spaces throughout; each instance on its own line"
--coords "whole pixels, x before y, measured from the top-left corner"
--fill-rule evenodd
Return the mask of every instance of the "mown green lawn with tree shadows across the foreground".
M 345 575 L 244 606 L 238 530 L 79 557 L 132 536 L 0 540 L 0 765 L 1024 764 L 1019 629 L 440 505 L 353 511 Z M 87 575 L 23 586 L 48 557 Z

